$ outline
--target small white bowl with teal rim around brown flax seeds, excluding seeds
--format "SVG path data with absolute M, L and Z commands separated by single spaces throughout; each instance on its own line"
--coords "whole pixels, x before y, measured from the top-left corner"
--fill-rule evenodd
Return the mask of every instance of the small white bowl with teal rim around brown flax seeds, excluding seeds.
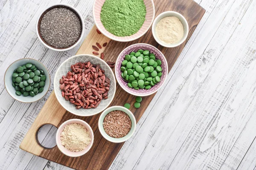
M 130 117 L 131 130 L 126 136 L 124 136 L 122 138 L 113 138 L 111 136 L 108 136 L 108 134 L 105 132 L 105 130 L 103 128 L 103 120 L 104 120 L 105 116 L 111 111 L 123 111 Z M 124 108 L 122 106 L 112 106 L 110 108 L 107 108 L 105 111 L 103 111 L 102 114 L 99 116 L 98 126 L 99 126 L 99 132 L 102 134 L 102 136 L 105 139 L 107 139 L 108 141 L 113 142 L 113 143 L 121 143 L 121 142 L 125 142 L 128 139 L 130 139 L 131 136 L 134 134 L 135 129 L 136 129 L 136 119 L 135 119 L 133 113 L 131 113 L 131 111 L 129 111 L 127 108 Z

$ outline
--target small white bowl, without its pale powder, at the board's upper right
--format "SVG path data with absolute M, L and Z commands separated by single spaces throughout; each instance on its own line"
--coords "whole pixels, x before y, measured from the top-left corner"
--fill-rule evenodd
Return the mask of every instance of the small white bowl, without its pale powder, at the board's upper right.
M 156 33 L 157 23 L 165 17 L 177 17 L 180 20 L 180 22 L 183 24 L 184 36 L 179 42 L 177 42 L 175 44 L 166 44 L 165 42 L 161 41 L 157 36 L 157 33 Z M 180 13 L 175 12 L 175 11 L 166 11 L 166 12 L 163 12 L 163 13 L 159 14 L 156 17 L 156 19 L 154 20 L 153 25 L 152 25 L 152 34 L 153 34 L 154 39 L 158 42 L 158 44 L 160 44 L 164 47 L 168 47 L 168 48 L 177 47 L 180 44 L 182 44 L 186 40 L 186 38 L 188 37 L 189 24 L 186 21 L 185 17 L 183 17 L 183 15 L 181 15 Z

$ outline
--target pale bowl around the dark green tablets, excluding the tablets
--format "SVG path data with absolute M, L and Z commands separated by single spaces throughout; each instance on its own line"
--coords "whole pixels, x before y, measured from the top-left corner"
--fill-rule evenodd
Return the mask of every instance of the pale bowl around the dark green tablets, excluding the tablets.
M 44 75 L 47 77 L 46 81 L 45 81 L 45 85 L 44 85 L 44 91 L 42 93 L 38 93 L 34 97 L 32 97 L 32 96 L 25 97 L 23 95 L 17 96 L 15 94 L 16 90 L 12 86 L 12 73 L 17 67 L 24 65 L 28 62 L 34 64 L 39 70 L 44 71 Z M 19 102 L 24 102 L 24 103 L 36 102 L 36 101 L 40 100 L 41 98 L 43 98 L 44 95 L 46 95 L 47 91 L 49 90 L 50 82 L 51 82 L 50 74 L 49 74 L 49 71 L 47 70 L 47 68 L 38 60 L 31 59 L 31 58 L 23 58 L 23 59 L 16 60 L 7 68 L 6 73 L 4 75 L 4 85 L 5 85 L 5 88 L 6 88 L 6 91 L 8 92 L 8 94 L 10 96 L 12 96 L 13 99 L 15 99 Z

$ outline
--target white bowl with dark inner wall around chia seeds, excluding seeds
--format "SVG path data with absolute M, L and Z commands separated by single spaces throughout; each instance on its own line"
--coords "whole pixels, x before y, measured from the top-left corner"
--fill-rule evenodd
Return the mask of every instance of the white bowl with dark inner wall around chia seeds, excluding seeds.
M 44 16 L 44 14 L 46 13 L 46 11 L 49 11 L 53 8 L 67 8 L 67 9 L 70 9 L 71 11 L 73 11 L 79 18 L 80 22 L 81 22 L 81 35 L 79 37 L 79 40 L 73 44 L 72 46 L 68 47 L 68 48 L 55 48 L 51 45 L 49 45 L 46 41 L 44 41 L 44 39 L 41 37 L 41 34 L 40 34 L 40 31 L 38 30 L 40 28 L 40 24 L 41 24 L 41 21 L 40 21 L 40 18 Z M 36 26 L 35 26 L 35 29 L 36 29 L 36 34 L 38 36 L 38 39 L 43 43 L 44 46 L 46 46 L 47 48 L 51 49 L 51 50 L 54 50 L 54 51 L 67 51 L 67 50 L 70 50 L 72 48 L 74 48 L 76 45 L 79 44 L 79 42 L 82 40 L 83 38 L 83 35 L 84 35 L 84 20 L 83 20 L 83 17 L 82 15 L 79 13 L 79 11 L 74 8 L 73 6 L 70 6 L 68 4 L 64 4 L 64 3 L 58 3 L 58 4 L 54 4 L 52 6 L 48 6 L 46 9 L 44 9 L 41 14 L 39 15 L 37 21 L 36 21 Z

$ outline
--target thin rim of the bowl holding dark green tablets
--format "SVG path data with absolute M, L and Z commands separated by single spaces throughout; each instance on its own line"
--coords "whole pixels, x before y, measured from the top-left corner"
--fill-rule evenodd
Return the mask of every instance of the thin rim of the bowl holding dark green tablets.
M 32 58 L 17 59 L 17 60 L 15 60 L 14 62 L 12 62 L 12 64 L 14 64 L 15 62 L 17 62 L 17 61 L 19 61 L 19 60 L 23 60 L 23 59 L 32 59 Z M 45 93 L 40 99 L 38 99 L 38 100 L 41 100 L 41 99 L 47 94 L 47 92 L 49 91 L 49 88 L 50 88 L 50 86 L 51 86 L 51 75 L 50 75 L 50 73 L 49 73 L 47 67 L 46 67 L 42 62 L 38 61 L 37 59 L 32 59 L 32 60 L 35 60 L 36 62 L 39 62 L 41 65 L 43 65 L 43 66 L 45 67 L 45 69 L 47 70 L 48 74 L 49 74 L 49 87 L 48 87 L 47 91 L 45 91 L 46 93 Z M 5 87 L 6 91 L 7 91 L 7 93 L 8 93 L 13 99 L 17 100 L 18 102 L 22 102 L 22 103 L 37 102 L 38 100 L 35 100 L 35 101 L 32 101 L 32 102 L 23 102 L 23 101 L 20 101 L 18 98 L 16 98 L 15 96 L 13 96 L 13 95 L 12 95 L 11 93 L 9 93 L 9 91 L 7 90 L 5 77 L 6 77 L 6 72 L 8 71 L 8 69 L 10 68 L 10 66 L 11 66 L 12 64 L 10 64 L 10 65 L 8 66 L 8 68 L 6 69 L 6 71 L 5 71 L 5 73 L 4 73 L 4 76 L 3 76 L 4 87 Z

